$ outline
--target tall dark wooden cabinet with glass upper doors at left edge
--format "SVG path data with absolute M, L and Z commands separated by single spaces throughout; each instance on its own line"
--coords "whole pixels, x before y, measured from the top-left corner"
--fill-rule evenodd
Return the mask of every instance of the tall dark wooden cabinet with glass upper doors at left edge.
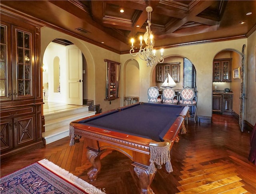
M 40 26 L 32 23 L 1 10 L 1 159 L 43 146 Z

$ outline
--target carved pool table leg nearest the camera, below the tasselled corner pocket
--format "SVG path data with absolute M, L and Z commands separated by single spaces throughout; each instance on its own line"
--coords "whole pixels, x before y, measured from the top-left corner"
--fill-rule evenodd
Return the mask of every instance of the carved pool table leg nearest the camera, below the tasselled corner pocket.
M 134 171 L 140 179 L 140 194 L 154 194 L 153 190 L 150 188 L 150 184 L 155 176 L 155 173 L 150 174 L 148 170 L 138 166 L 134 167 Z

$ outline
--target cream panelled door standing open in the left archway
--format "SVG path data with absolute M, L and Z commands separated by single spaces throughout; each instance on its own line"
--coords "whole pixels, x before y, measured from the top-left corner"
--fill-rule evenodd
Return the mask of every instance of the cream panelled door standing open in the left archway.
M 83 104 L 82 52 L 75 45 L 67 46 L 67 103 Z

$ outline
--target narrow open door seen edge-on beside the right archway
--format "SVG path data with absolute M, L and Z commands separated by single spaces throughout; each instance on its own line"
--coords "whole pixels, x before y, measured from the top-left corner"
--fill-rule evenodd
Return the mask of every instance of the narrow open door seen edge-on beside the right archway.
M 244 113 L 246 107 L 246 46 L 242 48 L 242 62 L 241 62 L 241 89 L 240 89 L 240 113 L 239 126 L 240 130 L 244 131 Z

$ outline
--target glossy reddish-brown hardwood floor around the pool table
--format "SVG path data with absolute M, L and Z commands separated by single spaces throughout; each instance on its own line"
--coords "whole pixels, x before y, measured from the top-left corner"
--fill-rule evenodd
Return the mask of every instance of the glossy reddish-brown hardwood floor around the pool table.
M 185 122 L 186 123 L 186 122 Z M 186 124 L 185 124 L 186 125 Z M 213 115 L 211 124 L 189 121 L 187 133 L 171 150 L 174 172 L 157 171 L 151 184 L 155 194 L 256 194 L 256 166 L 248 161 L 250 133 L 240 132 L 237 121 L 229 115 Z M 64 138 L 28 154 L 1 160 L 1 177 L 46 158 L 84 179 L 107 194 L 139 193 L 139 181 L 131 160 L 117 151 L 101 156 L 102 169 L 97 180 L 87 177 L 83 139 L 69 146 Z

